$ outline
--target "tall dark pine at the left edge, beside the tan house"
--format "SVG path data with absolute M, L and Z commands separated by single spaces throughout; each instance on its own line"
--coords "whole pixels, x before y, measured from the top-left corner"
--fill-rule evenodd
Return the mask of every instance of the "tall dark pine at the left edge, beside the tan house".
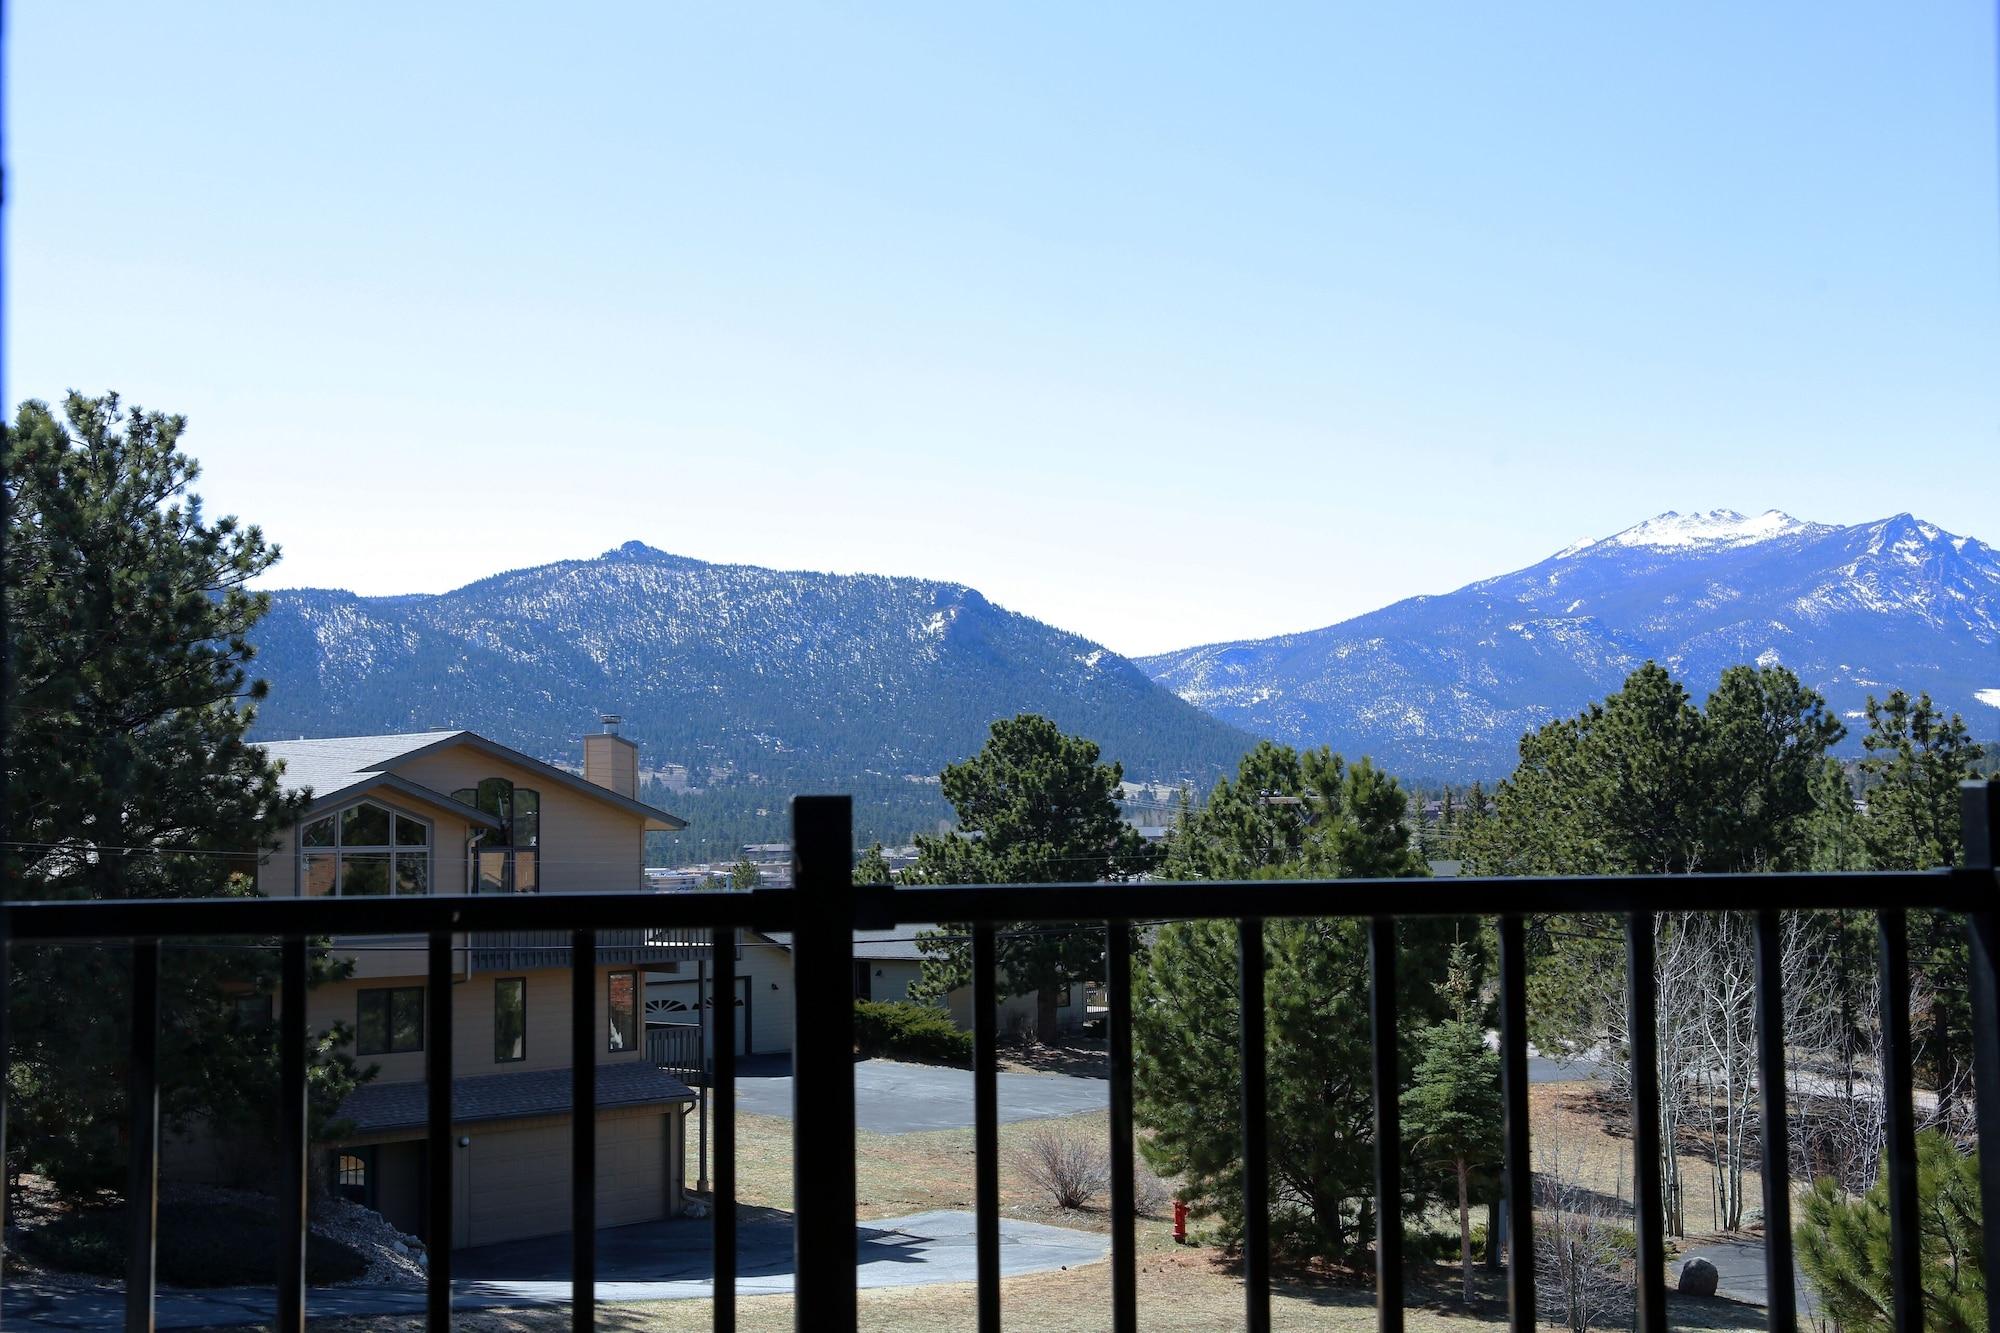
M 254 526 L 210 522 L 178 452 L 186 422 L 70 394 L 58 418 L 26 402 L 6 432 L 8 845 L 18 899 L 254 895 L 258 857 L 304 809 L 244 743 L 262 681 L 246 584 L 278 558 Z M 130 967 L 122 947 L 16 945 L 8 971 L 10 1115 L 26 1161 L 84 1197 L 124 1163 Z M 318 957 L 318 975 L 342 971 Z M 270 993 L 256 949 L 172 949 L 162 959 L 162 1115 L 220 1133 L 270 1131 L 272 1029 L 234 997 Z M 338 1037 L 338 1031 L 330 1037 Z M 318 1041 L 316 1123 L 354 1085 Z

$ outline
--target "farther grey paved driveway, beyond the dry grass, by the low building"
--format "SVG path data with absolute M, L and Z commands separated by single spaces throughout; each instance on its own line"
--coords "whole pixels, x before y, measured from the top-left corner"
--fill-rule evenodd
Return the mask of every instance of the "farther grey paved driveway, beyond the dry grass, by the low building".
M 1074 1075 L 996 1075 L 1000 1123 L 1036 1121 L 1110 1107 L 1110 1083 Z M 748 1061 L 736 1077 L 736 1107 L 756 1115 L 792 1115 L 792 1067 L 786 1057 Z M 878 1135 L 972 1125 L 972 1071 L 902 1061 L 854 1065 L 854 1123 Z

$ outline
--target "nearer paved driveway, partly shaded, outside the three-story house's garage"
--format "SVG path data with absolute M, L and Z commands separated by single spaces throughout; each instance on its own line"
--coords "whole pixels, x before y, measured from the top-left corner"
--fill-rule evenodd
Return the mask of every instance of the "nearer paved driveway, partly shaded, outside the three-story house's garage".
M 680 1301 L 712 1295 L 712 1245 L 706 1221 L 658 1221 L 598 1233 L 598 1301 Z M 736 1233 L 742 1295 L 792 1291 L 792 1227 L 788 1219 L 746 1221 Z M 888 1217 L 856 1229 L 860 1287 L 916 1287 L 976 1279 L 972 1213 L 934 1211 Z M 1110 1237 L 1042 1223 L 1000 1219 L 1000 1273 L 1042 1273 L 1096 1263 Z M 554 1235 L 506 1245 L 462 1249 L 454 1257 L 454 1309 L 566 1303 L 570 1299 L 570 1237 Z M 106 1329 L 124 1319 L 116 1289 L 52 1287 L 10 1279 L 0 1293 L 0 1319 L 44 1329 Z M 162 1291 L 156 1327 L 196 1329 L 270 1323 L 276 1297 L 268 1289 Z M 334 1315 L 422 1315 L 424 1293 L 410 1287 L 314 1287 L 306 1311 Z

